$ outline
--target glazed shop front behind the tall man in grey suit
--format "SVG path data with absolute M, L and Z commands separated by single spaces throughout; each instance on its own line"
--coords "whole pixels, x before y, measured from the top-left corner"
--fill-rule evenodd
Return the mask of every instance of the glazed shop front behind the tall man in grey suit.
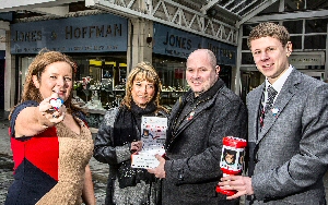
M 284 8 L 285 9 L 285 8 Z M 292 16 L 292 15 L 291 15 Z M 253 55 L 247 46 L 250 31 L 259 22 L 242 26 L 242 65 L 241 65 L 241 97 L 246 100 L 246 95 L 265 81 L 265 76 L 256 69 Z M 328 19 L 292 19 L 281 20 L 290 33 L 293 52 L 289 62 L 300 72 L 320 81 L 327 81 L 327 26 Z M 325 71 L 326 67 L 326 71 Z M 326 72 L 326 76 L 325 76 Z

